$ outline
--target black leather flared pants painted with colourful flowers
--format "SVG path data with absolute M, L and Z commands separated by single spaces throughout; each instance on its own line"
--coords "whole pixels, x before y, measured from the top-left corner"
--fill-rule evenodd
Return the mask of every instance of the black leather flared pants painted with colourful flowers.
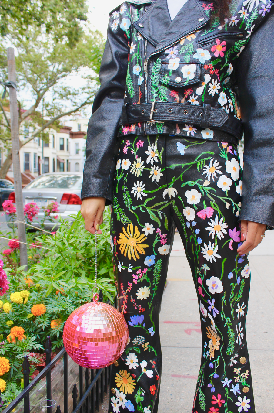
M 250 269 L 237 254 L 241 185 L 234 145 L 169 135 L 122 140 L 110 243 L 129 342 L 112 365 L 109 413 L 158 411 L 158 316 L 176 227 L 201 317 L 192 413 L 255 413 L 245 331 Z

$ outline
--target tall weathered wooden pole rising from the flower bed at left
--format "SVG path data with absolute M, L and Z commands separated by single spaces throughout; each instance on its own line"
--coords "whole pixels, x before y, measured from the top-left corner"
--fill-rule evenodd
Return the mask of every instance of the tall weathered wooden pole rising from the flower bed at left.
M 14 48 L 7 48 L 7 68 L 9 74 L 9 81 L 16 83 L 16 71 L 15 71 L 15 56 Z M 23 207 L 23 194 L 22 194 L 22 180 L 20 170 L 20 157 L 19 157 L 19 123 L 18 123 L 18 108 L 16 90 L 12 87 L 9 88 L 9 107 L 10 107 L 10 127 L 12 135 L 12 166 L 14 177 L 14 192 L 16 200 L 16 215 L 17 215 L 17 228 L 19 241 L 26 242 L 26 226 L 23 223 L 24 207 Z M 20 244 L 20 265 L 28 265 L 28 252 L 26 244 Z M 27 267 L 25 268 L 25 271 Z

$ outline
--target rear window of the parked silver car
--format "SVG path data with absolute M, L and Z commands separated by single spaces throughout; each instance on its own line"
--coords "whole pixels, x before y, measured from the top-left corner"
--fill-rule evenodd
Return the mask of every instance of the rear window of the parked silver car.
M 81 175 L 43 175 L 40 178 L 35 179 L 33 182 L 29 183 L 27 188 L 75 188 L 81 189 L 82 187 L 82 176 Z

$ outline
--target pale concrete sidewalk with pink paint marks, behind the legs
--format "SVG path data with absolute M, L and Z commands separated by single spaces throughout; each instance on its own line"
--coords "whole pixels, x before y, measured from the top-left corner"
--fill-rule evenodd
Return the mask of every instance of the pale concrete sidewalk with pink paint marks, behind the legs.
M 274 231 L 249 254 L 251 294 L 246 336 L 256 413 L 274 413 Z M 175 234 L 160 332 L 163 372 L 158 413 L 191 413 L 201 360 L 197 295 L 180 235 Z

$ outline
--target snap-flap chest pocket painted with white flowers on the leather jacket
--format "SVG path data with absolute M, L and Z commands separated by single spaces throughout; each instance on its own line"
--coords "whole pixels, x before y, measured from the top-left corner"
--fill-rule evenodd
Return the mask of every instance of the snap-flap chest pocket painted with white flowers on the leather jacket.
M 169 59 L 168 63 L 162 63 L 160 82 L 163 85 L 171 85 L 174 88 L 183 88 L 200 80 L 201 64 L 178 62 L 178 57 Z

